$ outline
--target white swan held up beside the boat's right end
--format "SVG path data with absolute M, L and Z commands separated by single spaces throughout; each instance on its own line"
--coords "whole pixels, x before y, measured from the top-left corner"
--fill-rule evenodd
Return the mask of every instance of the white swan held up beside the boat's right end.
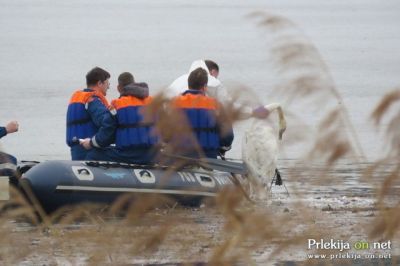
M 286 130 L 286 120 L 280 104 L 272 103 L 264 108 L 269 113 L 278 111 L 279 132 L 275 132 L 265 119 L 253 118 L 242 142 L 242 159 L 249 170 L 250 188 L 259 198 L 265 197 L 265 190 L 261 188 L 266 188 L 275 175 L 279 152 L 278 141 L 282 139 Z

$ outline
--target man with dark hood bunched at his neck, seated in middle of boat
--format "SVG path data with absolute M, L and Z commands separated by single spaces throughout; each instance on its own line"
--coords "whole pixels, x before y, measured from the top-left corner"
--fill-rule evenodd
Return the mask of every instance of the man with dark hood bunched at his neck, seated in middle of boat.
M 158 138 L 154 120 L 146 116 L 151 103 L 146 83 L 135 83 L 133 75 L 124 72 L 118 77 L 120 97 L 111 102 L 116 120 L 115 147 L 92 149 L 86 160 L 151 164 L 156 155 Z

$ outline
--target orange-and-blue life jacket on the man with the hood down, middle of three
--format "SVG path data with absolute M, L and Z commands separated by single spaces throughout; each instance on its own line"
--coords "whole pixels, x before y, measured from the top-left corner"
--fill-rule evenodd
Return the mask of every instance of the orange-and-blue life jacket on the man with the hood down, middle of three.
M 115 134 L 117 148 L 150 148 L 158 142 L 153 132 L 154 121 L 144 121 L 141 113 L 151 101 L 150 96 L 144 99 L 122 96 L 112 101 L 118 121 Z

